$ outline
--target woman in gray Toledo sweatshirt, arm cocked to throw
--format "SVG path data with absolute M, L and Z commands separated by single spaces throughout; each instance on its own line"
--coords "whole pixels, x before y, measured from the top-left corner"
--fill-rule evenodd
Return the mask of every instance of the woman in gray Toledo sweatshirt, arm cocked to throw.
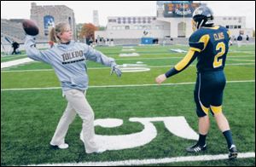
M 25 29 L 26 31 L 26 29 Z M 26 32 L 26 34 L 29 34 Z M 85 60 L 93 60 L 105 66 L 111 66 L 111 73 L 118 77 L 121 71 L 113 58 L 103 55 L 84 43 L 72 41 L 73 34 L 69 24 L 59 23 L 49 32 L 50 40 L 54 43 L 51 49 L 40 51 L 35 48 L 35 40 L 31 35 L 26 35 L 26 54 L 32 60 L 43 61 L 51 65 L 56 76 L 61 82 L 63 95 L 67 99 L 67 108 L 55 130 L 50 145 L 65 149 L 65 136 L 69 124 L 73 122 L 76 114 L 83 120 L 82 137 L 86 153 L 102 153 L 105 150 L 98 147 L 95 142 L 94 112 L 85 98 L 88 89 L 88 76 Z

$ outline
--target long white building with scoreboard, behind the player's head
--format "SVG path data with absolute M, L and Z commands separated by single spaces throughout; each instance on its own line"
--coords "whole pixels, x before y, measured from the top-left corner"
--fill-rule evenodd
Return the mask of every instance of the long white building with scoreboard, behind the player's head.
M 148 38 L 148 43 L 153 43 L 154 38 L 159 39 L 160 43 L 170 41 L 168 38 L 183 41 L 182 38 L 188 38 L 192 34 L 192 14 L 201 5 L 206 4 L 193 1 L 157 1 L 155 16 L 108 17 L 107 29 L 97 31 L 95 35 L 113 38 L 118 43 L 144 43 L 144 37 Z M 214 20 L 215 25 L 229 28 L 233 38 L 239 33 L 253 37 L 253 29 L 246 28 L 245 16 L 215 16 Z

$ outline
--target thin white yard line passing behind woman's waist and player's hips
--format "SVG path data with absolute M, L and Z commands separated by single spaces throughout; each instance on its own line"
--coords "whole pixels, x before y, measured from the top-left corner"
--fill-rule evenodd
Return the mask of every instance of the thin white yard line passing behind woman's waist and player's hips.
M 227 81 L 227 83 L 255 83 L 255 80 L 242 80 L 242 81 Z M 195 84 L 195 82 L 189 83 L 162 83 L 161 86 L 171 85 L 184 85 L 184 84 Z M 160 86 L 158 84 L 124 84 L 124 85 L 102 85 L 102 86 L 89 86 L 91 88 L 128 88 L 128 87 L 143 87 L 143 86 Z M 49 88 L 17 88 L 17 89 L 1 89 L 1 91 L 9 90 L 41 90 L 41 89 L 61 89 L 61 87 L 49 87 Z

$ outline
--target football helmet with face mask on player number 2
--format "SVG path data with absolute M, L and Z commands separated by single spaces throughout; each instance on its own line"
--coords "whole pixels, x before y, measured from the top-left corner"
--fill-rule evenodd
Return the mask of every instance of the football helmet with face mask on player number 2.
M 207 6 L 195 9 L 192 16 L 193 29 L 198 30 L 201 26 L 213 26 L 213 13 Z

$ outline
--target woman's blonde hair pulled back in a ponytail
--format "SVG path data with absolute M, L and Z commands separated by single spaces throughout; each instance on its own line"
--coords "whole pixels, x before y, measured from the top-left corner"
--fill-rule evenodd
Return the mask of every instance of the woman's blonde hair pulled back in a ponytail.
M 54 43 L 61 43 L 59 36 L 67 30 L 67 27 L 69 27 L 69 24 L 66 22 L 58 23 L 55 27 L 52 27 L 49 32 L 49 40 Z

